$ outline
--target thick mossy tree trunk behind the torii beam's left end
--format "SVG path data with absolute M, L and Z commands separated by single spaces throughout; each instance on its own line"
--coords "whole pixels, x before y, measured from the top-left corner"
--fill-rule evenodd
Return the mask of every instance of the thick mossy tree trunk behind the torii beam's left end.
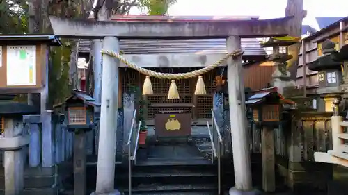
M 49 15 L 61 18 L 84 18 L 93 7 L 93 0 L 29 2 L 29 31 L 31 33 L 52 33 Z M 52 47 L 49 54 L 49 99 L 47 109 L 63 101 L 78 88 L 77 40 L 62 39 L 63 47 Z

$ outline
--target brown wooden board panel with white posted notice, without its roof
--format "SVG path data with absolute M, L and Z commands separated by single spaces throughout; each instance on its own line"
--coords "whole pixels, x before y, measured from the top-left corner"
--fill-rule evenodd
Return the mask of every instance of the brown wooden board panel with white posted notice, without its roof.
M 39 93 L 45 82 L 47 46 L 1 45 L 1 93 Z

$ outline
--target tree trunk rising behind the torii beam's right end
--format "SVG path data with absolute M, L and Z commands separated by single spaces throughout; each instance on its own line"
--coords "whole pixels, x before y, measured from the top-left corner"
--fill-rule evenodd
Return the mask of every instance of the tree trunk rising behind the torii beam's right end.
M 292 37 L 300 37 L 302 33 L 302 21 L 306 17 L 306 10 L 303 10 L 303 0 L 287 0 L 285 9 L 285 16 L 294 16 L 294 22 L 291 24 L 292 28 L 289 35 Z M 293 56 L 288 61 L 287 69 L 290 72 L 290 78 L 296 81 L 297 67 L 299 65 L 299 51 L 301 43 L 289 46 L 288 52 Z

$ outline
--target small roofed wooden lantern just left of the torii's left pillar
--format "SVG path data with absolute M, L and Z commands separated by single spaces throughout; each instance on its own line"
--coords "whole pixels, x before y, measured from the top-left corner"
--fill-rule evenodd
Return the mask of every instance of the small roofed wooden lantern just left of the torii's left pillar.
M 94 108 L 100 106 L 94 99 L 85 92 L 74 90 L 72 96 L 65 99 L 64 103 L 55 105 L 61 106 L 65 113 L 65 124 L 68 130 L 74 131 L 76 128 L 93 128 Z

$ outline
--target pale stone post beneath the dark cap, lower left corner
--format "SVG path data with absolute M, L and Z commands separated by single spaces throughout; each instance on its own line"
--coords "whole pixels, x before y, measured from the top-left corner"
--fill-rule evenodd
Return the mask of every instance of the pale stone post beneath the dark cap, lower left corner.
M 29 144 L 29 136 L 22 135 L 22 121 L 5 119 L 5 137 L 0 137 L 0 149 L 4 152 L 5 195 L 19 195 L 24 189 L 23 146 Z

